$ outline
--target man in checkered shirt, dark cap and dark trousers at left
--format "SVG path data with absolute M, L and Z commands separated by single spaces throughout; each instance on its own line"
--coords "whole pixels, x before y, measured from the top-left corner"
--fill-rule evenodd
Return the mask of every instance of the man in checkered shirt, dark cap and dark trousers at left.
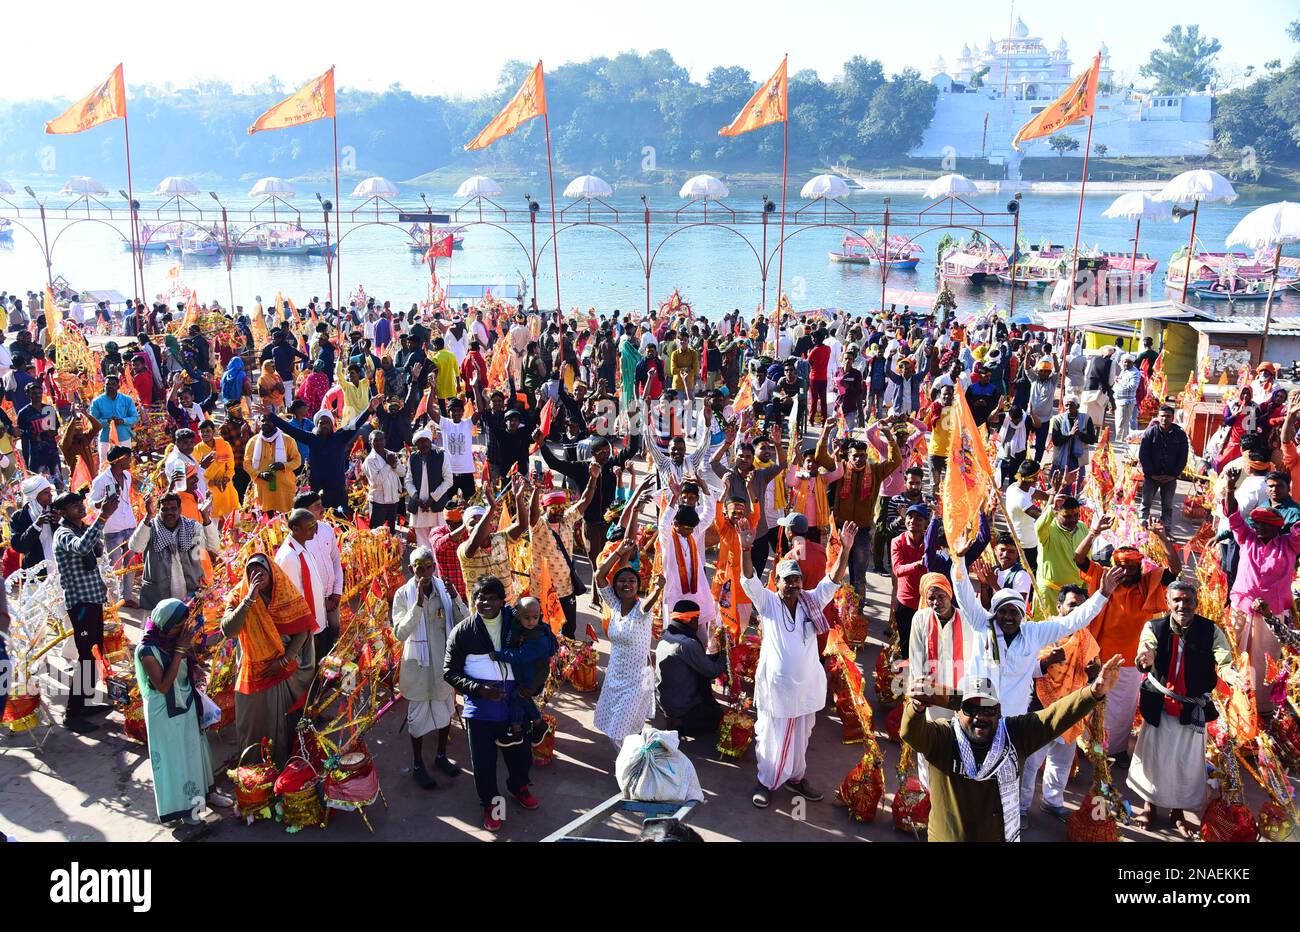
M 78 734 L 92 732 L 99 725 L 86 721 L 91 712 L 107 711 L 107 706 L 87 706 L 86 697 L 95 694 L 98 671 L 95 646 L 104 650 L 104 603 L 108 588 L 99 572 L 99 556 L 104 552 L 104 523 L 117 511 L 116 494 L 104 499 L 99 516 L 86 524 L 86 499 L 81 493 L 68 491 L 56 498 L 52 507 L 62 519 L 55 532 L 55 563 L 58 582 L 64 589 L 64 603 L 73 627 L 77 645 L 77 671 L 73 675 L 72 695 L 64 724 Z

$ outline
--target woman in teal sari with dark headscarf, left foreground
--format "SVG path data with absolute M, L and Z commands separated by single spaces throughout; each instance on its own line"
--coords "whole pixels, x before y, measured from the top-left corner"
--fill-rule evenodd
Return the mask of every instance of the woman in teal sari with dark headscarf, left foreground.
M 204 801 L 228 807 L 233 799 L 212 792 L 212 751 L 200 727 L 203 703 L 196 689 L 198 628 L 188 616 L 188 606 L 179 599 L 164 599 L 153 608 L 135 647 L 135 680 L 144 703 L 159 822 L 195 824 Z

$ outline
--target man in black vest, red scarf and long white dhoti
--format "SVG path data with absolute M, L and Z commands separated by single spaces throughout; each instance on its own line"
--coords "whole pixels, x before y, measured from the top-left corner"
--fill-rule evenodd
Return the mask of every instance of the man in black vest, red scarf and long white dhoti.
M 1128 789 L 1145 801 L 1134 822 L 1171 810 L 1174 828 L 1192 837 L 1187 812 L 1205 805 L 1205 724 L 1218 718 L 1212 693 L 1219 679 L 1236 684 L 1232 651 L 1217 624 L 1196 614 L 1196 586 L 1178 580 L 1165 593 L 1169 614 L 1148 621 L 1138 646 L 1147 673 Z

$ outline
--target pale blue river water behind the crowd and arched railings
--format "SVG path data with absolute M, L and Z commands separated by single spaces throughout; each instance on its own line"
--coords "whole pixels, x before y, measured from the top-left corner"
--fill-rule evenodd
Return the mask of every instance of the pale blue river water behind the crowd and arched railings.
M 560 179 L 556 179 L 558 185 Z M 545 179 L 542 179 L 545 183 Z M 802 181 L 792 179 L 792 199 L 789 211 L 805 205 L 793 196 Z M 20 186 L 21 187 L 21 186 Z M 53 185 L 38 196 L 49 199 L 51 205 L 68 201 L 66 196 L 52 195 Z M 299 185 L 300 194 L 292 203 L 303 209 L 304 226 L 321 226 L 321 214 L 315 204 L 315 187 Z M 494 198 L 502 205 L 515 209 L 521 205 L 525 190 L 536 191 L 538 185 L 528 188 L 523 185 L 507 187 L 504 194 Z M 254 200 L 244 191 L 231 187 L 217 188 L 222 200 L 230 208 L 231 224 L 239 222 L 239 209 L 248 211 Z M 324 192 L 324 188 L 322 188 Z M 429 201 L 436 208 L 446 208 L 459 201 L 451 191 L 425 188 Z M 608 201 L 619 211 L 628 211 L 638 217 L 641 203 L 638 195 L 646 194 L 655 209 L 673 209 L 682 201 L 676 190 L 670 188 L 628 188 L 616 191 Z M 742 187 L 732 186 L 731 196 L 724 201 L 733 209 L 757 211 L 762 196 L 779 195 L 774 186 Z M 27 204 L 22 195 L 10 198 L 14 203 Z M 1104 220 L 1101 212 L 1110 204 L 1114 195 L 1087 196 L 1083 205 L 1083 235 L 1087 246 L 1100 246 L 1105 250 L 1128 251 L 1132 248 L 1134 225 L 1128 221 Z M 203 208 L 212 203 L 203 195 L 195 198 Z M 421 209 L 419 190 L 403 188 L 398 203 L 407 209 Z M 972 196 L 971 204 L 982 211 L 1001 212 L 1008 195 Z M 150 216 L 159 199 L 142 198 L 143 213 Z M 105 199 L 116 205 L 117 199 Z M 858 211 L 879 211 L 879 194 L 855 194 L 848 201 Z M 1020 207 L 1022 235 L 1030 243 L 1050 240 L 1069 246 L 1074 238 L 1078 195 L 1026 194 Z M 1223 238 L 1232 226 L 1252 208 L 1266 203 L 1261 199 L 1240 198 L 1231 205 L 1206 204 L 1201 208 L 1197 221 L 1197 240 L 1205 250 L 1223 250 Z M 308 209 L 311 204 L 311 209 Z M 893 212 L 916 211 L 927 205 L 919 195 L 893 195 Z M 4 207 L 0 204 L 0 207 Z M 344 209 L 356 207 L 351 198 L 343 198 Z M 716 208 L 711 208 L 712 211 Z M 571 208 L 569 218 L 581 214 L 581 208 Z M 3 214 L 0 214 L 3 216 Z M 247 225 L 247 220 L 244 221 Z M 775 218 L 774 218 L 775 222 Z M 1143 224 L 1140 248 L 1153 259 L 1160 260 L 1156 272 L 1156 296 L 1164 296 L 1164 273 L 1170 253 L 1187 243 L 1191 220 L 1179 224 Z M 39 224 L 32 224 L 35 235 L 40 235 Z M 644 229 L 640 225 L 620 227 L 644 248 Z M 760 229 L 754 226 L 736 227 L 753 239 L 758 248 Z M 788 227 L 789 229 L 789 227 Z M 667 235 L 671 227 L 651 227 L 651 250 Z M 538 214 L 538 242 L 550 231 L 550 213 L 543 203 Z M 775 226 L 770 227 L 770 243 L 775 243 Z M 344 227 L 344 233 L 348 233 Z M 909 231 L 910 234 L 911 231 Z M 942 230 L 923 234 L 919 244 L 926 250 L 915 272 L 892 270 L 889 287 L 918 291 L 935 291 L 933 248 Z M 1008 246 L 1010 230 L 1000 235 Z M 117 289 L 133 294 L 130 257 L 121 246 L 118 237 L 103 224 L 82 222 L 66 226 L 58 221 L 51 222 L 53 246 L 53 273 L 64 276 L 77 289 Z M 516 227 L 516 235 L 528 243 L 528 229 Z M 954 231 L 954 235 L 965 235 Z M 827 252 L 837 250 L 844 237 L 841 229 L 809 229 L 786 240 L 784 257 L 784 290 L 790 295 L 796 308 L 838 307 L 854 312 L 878 308 L 880 304 L 880 269 L 835 264 Z M 633 250 L 610 230 L 601 227 L 577 227 L 560 234 L 560 289 L 566 307 L 594 307 L 599 312 L 612 308 L 637 309 L 645 307 L 645 273 L 641 259 Z M 365 292 L 381 299 L 393 300 L 395 307 L 408 305 L 428 295 L 428 266 L 417 253 L 412 252 L 404 233 L 393 226 L 360 227 L 347 235 L 342 251 L 343 291 L 352 294 L 358 286 Z M 196 290 L 200 300 L 214 299 L 226 304 L 230 290 L 237 304 L 251 305 L 256 295 L 273 300 L 277 291 L 292 296 L 302 303 L 312 295 L 324 298 L 326 294 L 325 260 L 299 256 L 257 256 L 239 255 L 228 285 L 225 263 L 220 257 L 178 256 L 150 253 L 144 260 L 146 290 L 150 295 L 165 294 L 177 281 L 169 273 L 181 265 L 178 279 Z M 776 260 L 768 278 L 768 307 L 775 304 Z M 541 256 L 537 287 L 542 305 L 554 303 L 554 265 L 550 251 Z M 490 226 L 471 226 L 464 231 L 464 248 L 456 250 L 450 260 L 438 261 L 438 276 L 452 283 L 517 283 L 526 279 L 526 253 L 510 235 Z M 44 261 L 36 240 L 22 230 L 14 231 L 13 243 L 0 243 L 0 290 L 25 292 L 39 290 L 44 283 Z M 750 248 L 733 231 L 718 227 L 697 226 L 668 240 L 656 253 L 651 277 L 653 303 L 667 299 L 679 289 L 681 295 L 693 304 L 697 313 L 718 317 L 732 308 L 751 313 L 760 300 L 760 279 L 758 264 Z M 1010 289 L 997 283 L 954 285 L 959 307 L 1006 307 Z M 1044 309 L 1049 295 L 1041 290 L 1018 290 L 1017 309 Z M 1300 313 L 1300 295 L 1286 292 L 1282 298 L 1282 313 Z M 1253 305 L 1258 308 L 1258 305 Z M 1228 313 L 1226 304 L 1218 304 L 1216 311 Z M 1256 312 L 1256 311 L 1251 311 Z

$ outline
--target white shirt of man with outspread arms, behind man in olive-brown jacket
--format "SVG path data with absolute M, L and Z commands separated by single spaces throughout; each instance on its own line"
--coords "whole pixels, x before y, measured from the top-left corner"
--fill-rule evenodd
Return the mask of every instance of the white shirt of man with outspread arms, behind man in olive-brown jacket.
M 997 680 L 997 698 L 1002 715 L 1024 715 L 1030 711 L 1030 694 L 1039 672 L 1039 653 L 1048 645 L 1069 637 L 1088 624 L 1106 607 L 1106 597 L 1097 590 L 1087 602 L 1063 617 L 1028 621 L 1011 643 L 993 615 L 980 604 L 966 569 L 966 560 L 953 560 L 953 593 L 962 617 L 984 641 L 984 669 Z M 993 650 L 997 651 L 994 658 Z

